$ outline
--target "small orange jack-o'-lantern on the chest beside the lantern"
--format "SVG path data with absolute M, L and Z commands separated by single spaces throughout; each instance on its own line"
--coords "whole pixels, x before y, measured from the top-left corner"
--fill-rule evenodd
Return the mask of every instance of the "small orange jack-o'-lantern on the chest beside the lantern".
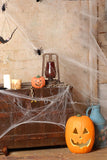
M 42 88 L 45 86 L 45 78 L 43 76 L 33 77 L 31 80 L 32 87 L 34 88 Z

